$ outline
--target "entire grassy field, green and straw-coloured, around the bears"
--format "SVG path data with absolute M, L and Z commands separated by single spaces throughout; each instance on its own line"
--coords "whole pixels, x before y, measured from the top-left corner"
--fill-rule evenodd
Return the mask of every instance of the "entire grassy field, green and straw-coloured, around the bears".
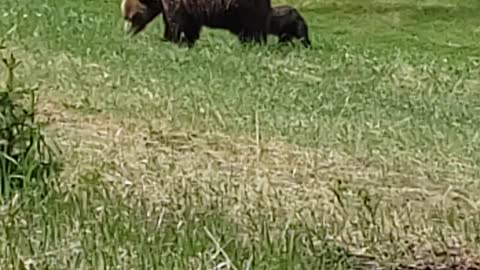
M 212 29 L 189 50 L 160 19 L 131 39 L 116 0 L 0 1 L 65 163 L 59 191 L 0 209 L 0 268 L 474 260 L 480 2 L 291 4 L 310 50 Z

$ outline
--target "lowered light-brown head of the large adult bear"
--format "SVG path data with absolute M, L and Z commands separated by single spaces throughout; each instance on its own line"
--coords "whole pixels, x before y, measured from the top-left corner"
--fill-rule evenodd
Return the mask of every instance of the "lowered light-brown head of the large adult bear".
M 163 9 L 161 1 L 155 0 L 122 0 L 120 8 L 125 20 L 125 31 L 132 35 L 145 29 Z

